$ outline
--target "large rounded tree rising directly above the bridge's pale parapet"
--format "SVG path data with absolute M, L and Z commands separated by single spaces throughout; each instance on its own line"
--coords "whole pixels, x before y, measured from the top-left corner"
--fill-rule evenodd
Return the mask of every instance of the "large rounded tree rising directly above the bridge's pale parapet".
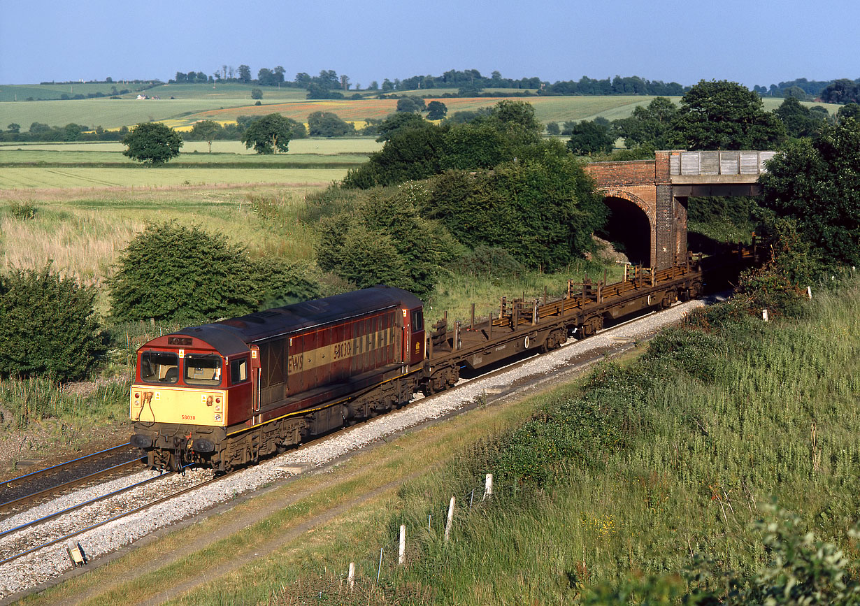
M 681 97 L 670 141 L 687 150 L 771 150 L 785 136 L 761 97 L 738 83 L 700 81 Z

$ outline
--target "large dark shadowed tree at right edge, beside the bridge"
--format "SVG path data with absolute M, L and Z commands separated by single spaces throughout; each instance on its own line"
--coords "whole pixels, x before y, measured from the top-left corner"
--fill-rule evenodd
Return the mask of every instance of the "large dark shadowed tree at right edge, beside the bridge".
M 796 220 L 831 265 L 860 265 L 860 122 L 824 125 L 792 142 L 759 178 L 766 208 Z

